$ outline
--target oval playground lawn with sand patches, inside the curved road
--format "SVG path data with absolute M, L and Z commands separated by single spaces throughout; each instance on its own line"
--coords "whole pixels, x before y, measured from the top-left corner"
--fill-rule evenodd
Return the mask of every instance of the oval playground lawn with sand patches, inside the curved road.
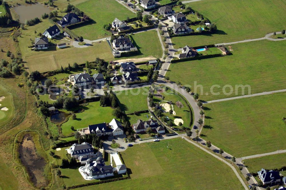
M 183 126 L 189 127 L 189 125 L 190 125 L 190 114 L 191 113 L 190 113 L 186 103 L 184 102 L 184 100 L 179 95 L 177 95 L 176 93 L 178 93 L 178 92 L 176 92 L 174 90 L 170 90 L 170 89 L 161 93 L 162 96 L 165 96 L 164 101 L 172 100 L 174 112 L 176 113 L 176 115 L 173 115 L 173 114 L 170 115 L 168 112 L 168 113 L 163 113 L 163 115 L 168 116 L 169 119 L 172 121 L 174 121 L 174 119 L 176 119 L 176 118 L 182 119 L 184 121 Z M 154 94 L 157 94 L 157 92 L 154 92 Z M 158 96 L 153 96 L 153 100 L 154 100 L 154 103 L 159 103 L 162 101 L 162 98 L 160 98 Z M 181 109 L 178 108 L 178 106 L 176 105 L 177 101 L 180 101 L 183 104 L 183 107 Z M 167 103 L 167 102 L 161 102 L 160 104 L 165 104 L 165 103 Z M 170 106 L 170 108 L 172 108 L 172 106 Z M 162 117 L 164 117 L 164 116 L 162 116 Z M 176 126 L 173 122 L 173 127 L 174 126 L 179 127 L 179 126 Z

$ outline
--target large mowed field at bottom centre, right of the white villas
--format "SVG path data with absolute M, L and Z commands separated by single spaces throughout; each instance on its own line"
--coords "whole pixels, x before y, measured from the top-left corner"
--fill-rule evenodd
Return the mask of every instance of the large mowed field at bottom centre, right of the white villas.
M 121 154 L 131 179 L 78 190 L 209 189 L 210 184 L 211 189 L 243 189 L 227 165 L 181 138 L 134 145 Z

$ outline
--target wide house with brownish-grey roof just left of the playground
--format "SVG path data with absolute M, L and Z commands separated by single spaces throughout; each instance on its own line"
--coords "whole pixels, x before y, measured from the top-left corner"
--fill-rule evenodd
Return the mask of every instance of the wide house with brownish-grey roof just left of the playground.
M 137 123 L 134 123 L 133 129 L 136 133 L 145 132 L 148 127 L 151 127 L 153 130 L 156 130 L 158 133 L 164 133 L 165 129 L 158 124 L 157 120 L 152 120 L 151 118 L 147 121 L 142 121 L 141 119 L 137 120 Z

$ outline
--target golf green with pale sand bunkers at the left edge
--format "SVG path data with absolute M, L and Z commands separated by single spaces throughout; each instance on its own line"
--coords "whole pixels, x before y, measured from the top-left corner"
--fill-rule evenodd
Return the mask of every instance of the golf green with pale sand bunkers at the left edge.
M 0 6 L 1 7 L 1 6 Z M 16 87 L 15 88 L 19 88 Z M 14 105 L 13 105 L 13 96 L 7 92 L 7 90 L 0 85 L 0 97 L 4 96 L 5 98 L 0 101 L 0 126 L 3 126 L 5 123 L 11 121 L 14 117 Z M 1 108 L 8 108 L 7 111 L 1 110 Z

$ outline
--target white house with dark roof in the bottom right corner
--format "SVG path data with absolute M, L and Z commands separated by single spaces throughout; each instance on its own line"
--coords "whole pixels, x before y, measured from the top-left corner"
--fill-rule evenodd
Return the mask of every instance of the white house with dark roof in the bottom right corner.
M 281 182 L 279 171 L 266 171 L 262 168 L 261 171 L 257 172 L 257 174 L 260 180 L 263 182 L 263 185 L 275 185 Z

